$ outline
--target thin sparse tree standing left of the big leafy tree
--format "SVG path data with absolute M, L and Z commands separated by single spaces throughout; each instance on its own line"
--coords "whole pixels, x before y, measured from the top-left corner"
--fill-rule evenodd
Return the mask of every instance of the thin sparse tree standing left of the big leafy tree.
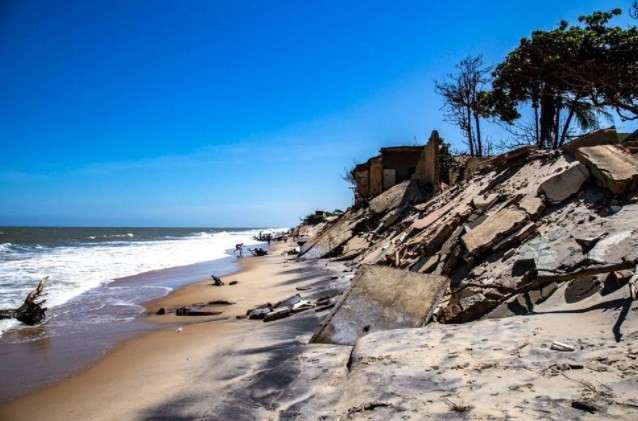
M 464 133 L 470 156 L 483 156 L 481 118 L 485 116 L 485 87 L 491 69 L 484 66 L 481 56 L 468 56 L 456 70 L 444 82 L 435 81 L 435 92 L 444 99 L 446 121 Z

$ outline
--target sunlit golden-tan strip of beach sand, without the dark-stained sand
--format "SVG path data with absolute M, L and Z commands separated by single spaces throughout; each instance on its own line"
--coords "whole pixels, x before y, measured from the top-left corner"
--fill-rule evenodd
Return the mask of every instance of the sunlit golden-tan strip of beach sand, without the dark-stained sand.
M 205 367 L 209 367 L 211 375 L 232 377 L 232 366 L 242 360 L 233 357 L 233 350 L 249 346 L 259 332 L 274 329 L 280 337 L 295 338 L 299 333 L 309 336 L 321 315 L 306 312 L 272 323 L 236 320 L 236 316 L 245 315 L 250 307 L 294 295 L 299 292 L 295 289 L 297 286 L 326 284 L 330 280 L 326 275 L 336 273 L 335 269 L 324 266 L 325 262 L 294 262 L 281 256 L 281 251 L 288 246 L 274 244 L 268 256 L 238 259 L 240 270 L 223 276 L 225 285 L 222 287 L 212 286 L 210 280 L 201 280 L 145 304 L 153 314 L 159 307 L 168 310 L 214 299 L 236 302 L 219 306 L 223 311 L 221 315 L 167 314 L 142 318 L 142 322 L 160 326 L 117 343 L 97 362 L 71 377 L 0 404 L 0 418 L 144 419 L 141 414 L 149 408 L 158 408 L 162 402 L 196 389 L 192 376 Z M 232 280 L 238 284 L 229 285 Z M 304 327 L 291 331 L 284 327 L 290 321 L 301 322 Z M 182 327 L 179 333 L 178 326 Z M 268 350 L 261 354 L 252 355 L 251 361 L 268 359 Z M 223 358 L 227 364 L 211 366 L 210 361 L 217 358 Z

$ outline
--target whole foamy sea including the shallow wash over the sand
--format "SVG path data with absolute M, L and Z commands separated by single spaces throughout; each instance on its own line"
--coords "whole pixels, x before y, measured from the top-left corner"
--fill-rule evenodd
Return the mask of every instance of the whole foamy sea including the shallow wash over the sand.
M 143 304 L 238 269 L 235 245 L 282 229 L 0 227 L 0 308 L 18 307 L 49 276 L 46 318 L 0 320 L 0 402 L 88 367 L 145 323 Z M 245 254 L 250 255 L 246 250 Z

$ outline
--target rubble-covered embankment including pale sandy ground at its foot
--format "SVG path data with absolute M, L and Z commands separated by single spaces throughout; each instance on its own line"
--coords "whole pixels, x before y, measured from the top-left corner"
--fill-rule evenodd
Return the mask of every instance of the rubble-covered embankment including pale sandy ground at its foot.
M 330 387 L 281 399 L 280 418 L 636 419 L 626 139 L 604 129 L 468 160 L 455 185 L 399 183 L 322 227 L 299 258 L 358 271 L 343 296 L 315 302 L 331 312 L 300 361 L 321 365 L 318 347 L 350 358 L 315 377 Z

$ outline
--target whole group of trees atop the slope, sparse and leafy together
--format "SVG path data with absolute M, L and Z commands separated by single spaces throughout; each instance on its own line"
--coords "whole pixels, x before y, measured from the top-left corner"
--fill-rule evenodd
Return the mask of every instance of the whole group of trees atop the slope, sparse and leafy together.
M 509 147 L 547 149 L 599 128 L 614 114 L 638 119 L 638 29 L 612 26 L 621 13 L 594 12 L 576 25 L 562 21 L 553 30 L 536 30 L 493 70 L 480 56 L 469 56 L 436 82 L 446 118 L 461 129 L 469 155 L 486 153 L 484 118 L 513 134 Z M 637 3 L 630 15 L 638 17 Z

